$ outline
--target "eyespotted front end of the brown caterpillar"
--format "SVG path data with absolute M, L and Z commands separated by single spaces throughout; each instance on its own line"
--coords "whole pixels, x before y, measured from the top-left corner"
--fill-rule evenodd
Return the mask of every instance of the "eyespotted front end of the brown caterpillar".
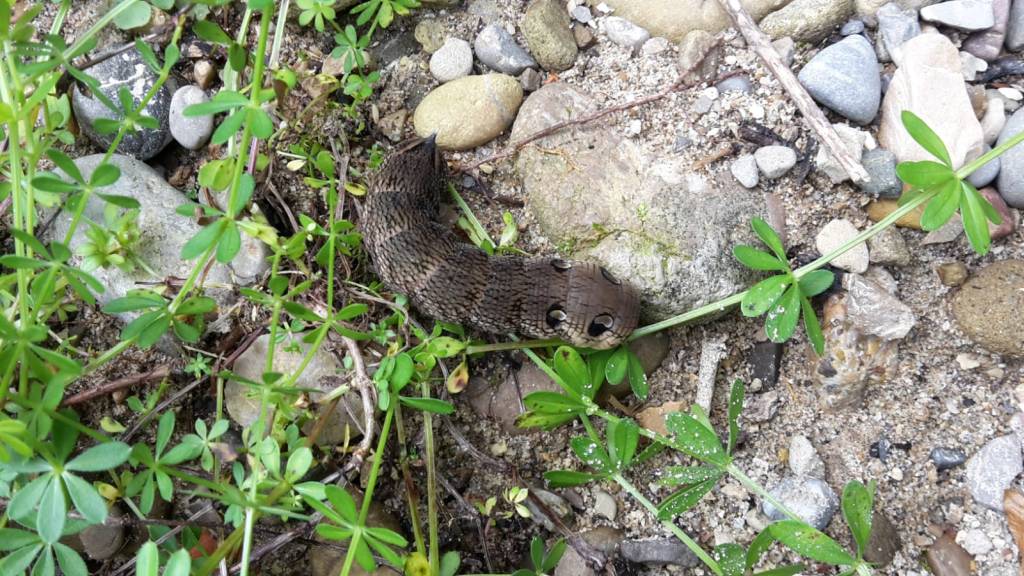
M 564 299 L 552 302 L 545 316 L 561 339 L 574 346 L 607 349 L 637 327 L 640 298 L 632 286 L 593 262 L 555 258 L 551 266 L 567 280 Z

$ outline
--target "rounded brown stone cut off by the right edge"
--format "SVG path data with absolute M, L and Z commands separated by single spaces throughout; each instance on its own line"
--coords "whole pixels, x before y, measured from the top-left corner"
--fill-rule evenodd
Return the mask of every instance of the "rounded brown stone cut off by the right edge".
M 978 271 L 953 296 L 961 330 L 982 347 L 1024 356 L 1024 260 L 999 260 Z

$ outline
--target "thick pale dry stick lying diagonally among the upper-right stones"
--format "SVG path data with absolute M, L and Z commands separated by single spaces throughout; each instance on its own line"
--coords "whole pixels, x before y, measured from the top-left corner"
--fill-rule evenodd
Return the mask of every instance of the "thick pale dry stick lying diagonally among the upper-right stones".
M 746 43 L 761 57 L 765 66 L 768 67 L 768 70 L 775 75 L 779 84 L 782 85 L 782 88 L 793 98 L 793 104 L 804 115 L 808 127 L 818 135 L 821 146 L 825 147 L 828 154 L 839 162 L 840 166 L 846 170 L 847 175 L 854 182 L 869 181 L 870 178 L 867 176 L 867 172 L 860 164 L 860 161 L 850 156 L 846 151 L 846 145 L 839 137 L 839 133 L 833 128 L 828 119 L 825 118 L 824 113 L 814 104 L 811 95 L 807 93 L 807 90 L 800 84 L 797 77 L 793 75 L 790 67 L 785 66 L 778 52 L 771 45 L 771 39 L 758 28 L 758 25 L 739 3 L 739 0 L 719 0 L 719 3 L 725 8 L 726 12 L 729 12 L 732 24 L 743 35 L 743 38 L 746 39 Z

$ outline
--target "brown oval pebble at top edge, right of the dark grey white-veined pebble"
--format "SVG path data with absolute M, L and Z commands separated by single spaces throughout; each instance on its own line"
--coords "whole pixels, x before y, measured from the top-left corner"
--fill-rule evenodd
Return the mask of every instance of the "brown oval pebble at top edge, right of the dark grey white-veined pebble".
M 522 35 L 545 70 L 561 72 L 572 68 L 579 48 L 569 28 L 569 15 L 559 0 L 530 0 L 522 18 Z

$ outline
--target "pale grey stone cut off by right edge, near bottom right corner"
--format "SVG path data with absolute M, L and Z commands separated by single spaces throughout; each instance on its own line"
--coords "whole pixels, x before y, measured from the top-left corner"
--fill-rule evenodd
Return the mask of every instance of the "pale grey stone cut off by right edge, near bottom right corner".
M 988 441 L 971 456 L 965 481 L 975 502 L 1001 512 L 1002 492 L 1022 470 L 1021 442 L 1010 434 Z

